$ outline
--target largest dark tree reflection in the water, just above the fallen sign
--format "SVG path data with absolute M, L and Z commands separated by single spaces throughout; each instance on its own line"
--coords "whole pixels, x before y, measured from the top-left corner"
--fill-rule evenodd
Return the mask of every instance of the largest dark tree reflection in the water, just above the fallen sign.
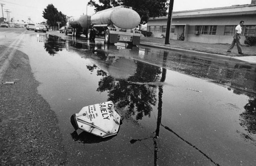
M 136 107 L 136 120 L 139 120 L 143 116 L 150 116 L 151 105 L 156 104 L 156 86 L 146 84 L 146 82 L 158 80 L 160 74 L 159 67 L 141 62 L 137 63 L 135 75 L 127 80 L 114 79 L 112 76 L 106 76 L 103 71 L 98 71 L 97 75 L 102 75 L 103 78 L 99 82 L 97 91 L 108 91 L 108 100 L 112 100 L 119 107 L 127 106 L 128 112 L 132 115 L 135 115 L 134 108 Z

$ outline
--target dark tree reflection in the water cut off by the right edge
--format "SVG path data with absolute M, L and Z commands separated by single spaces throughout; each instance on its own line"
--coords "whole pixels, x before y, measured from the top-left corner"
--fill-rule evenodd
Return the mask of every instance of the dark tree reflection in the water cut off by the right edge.
M 249 100 L 244 108 L 245 112 L 240 114 L 240 124 L 246 127 L 249 133 L 256 134 L 256 99 Z

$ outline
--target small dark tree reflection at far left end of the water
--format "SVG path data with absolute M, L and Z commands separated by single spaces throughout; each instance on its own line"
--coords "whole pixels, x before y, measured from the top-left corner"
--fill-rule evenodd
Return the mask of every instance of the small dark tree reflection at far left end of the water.
M 45 49 L 51 56 L 54 56 L 54 54 L 65 47 L 65 40 L 62 40 L 57 36 L 49 35 L 48 41 L 45 43 Z

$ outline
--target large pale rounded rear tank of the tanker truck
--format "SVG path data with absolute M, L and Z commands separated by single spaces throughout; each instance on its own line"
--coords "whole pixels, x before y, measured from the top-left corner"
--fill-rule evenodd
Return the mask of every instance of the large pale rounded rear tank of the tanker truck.
M 118 6 L 95 13 L 91 17 L 92 25 L 115 25 L 121 29 L 134 29 L 140 24 L 140 15 L 126 6 Z

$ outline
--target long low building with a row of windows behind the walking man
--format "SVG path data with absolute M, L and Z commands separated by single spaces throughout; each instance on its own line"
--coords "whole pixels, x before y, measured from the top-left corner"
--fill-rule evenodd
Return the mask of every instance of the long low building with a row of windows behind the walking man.
M 170 39 L 205 43 L 230 43 L 234 27 L 245 21 L 241 43 L 245 36 L 256 36 L 256 1 L 250 5 L 173 12 Z M 166 33 L 167 16 L 150 18 L 147 31 L 154 37 Z

